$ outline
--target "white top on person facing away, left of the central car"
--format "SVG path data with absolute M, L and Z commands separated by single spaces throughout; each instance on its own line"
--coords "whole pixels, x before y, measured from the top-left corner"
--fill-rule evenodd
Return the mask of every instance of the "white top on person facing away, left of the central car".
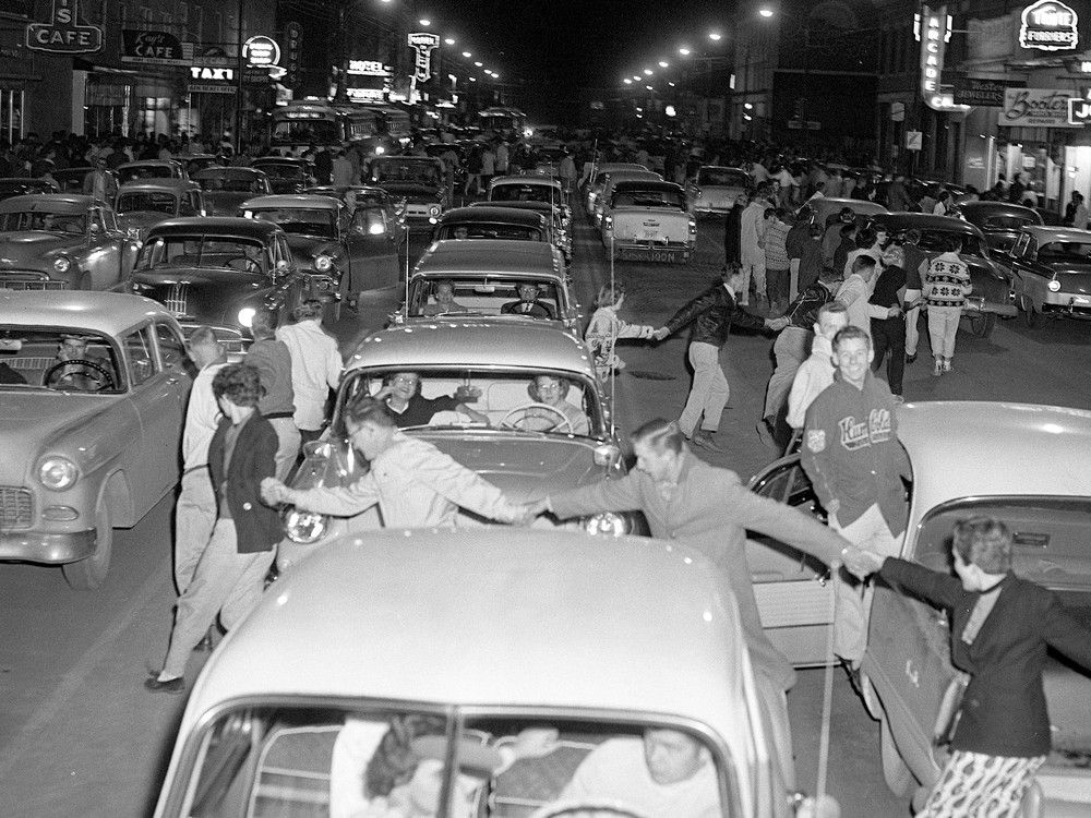
M 341 360 L 337 341 L 326 334 L 317 318 L 300 321 L 276 330 L 291 356 L 291 387 L 296 394 L 296 426 L 305 431 L 322 428 L 326 396 L 337 388 Z

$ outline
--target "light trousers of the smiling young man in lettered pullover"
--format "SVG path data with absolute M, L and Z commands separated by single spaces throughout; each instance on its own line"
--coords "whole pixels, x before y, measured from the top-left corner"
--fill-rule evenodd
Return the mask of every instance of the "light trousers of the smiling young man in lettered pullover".
M 883 556 L 898 556 L 901 550 L 899 538 L 890 532 L 877 505 L 870 506 L 848 526 L 841 526 L 831 514 L 829 527 L 853 545 Z M 834 652 L 848 662 L 860 662 L 864 658 L 872 591 L 871 581 L 861 582 L 844 568 L 834 576 Z

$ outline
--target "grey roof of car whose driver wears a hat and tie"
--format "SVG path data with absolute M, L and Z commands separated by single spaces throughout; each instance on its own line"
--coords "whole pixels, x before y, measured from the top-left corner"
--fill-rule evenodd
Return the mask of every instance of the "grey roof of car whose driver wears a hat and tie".
M 516 239 L 444 239 L 432 242 L 417 262 L 418 272 L 444 270 L 460 273 L 513 273 L 533 276 L 561 276 L 556 252 L 543 241 Z

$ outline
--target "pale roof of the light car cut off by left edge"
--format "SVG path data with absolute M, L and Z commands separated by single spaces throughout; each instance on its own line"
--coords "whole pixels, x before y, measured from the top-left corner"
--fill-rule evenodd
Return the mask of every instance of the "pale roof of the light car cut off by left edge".
M 116 336 L 145 318 L 173 317 L 157 301 L 98 290 L 0 290 L 0 323 L 16 326 L 79 327 Z

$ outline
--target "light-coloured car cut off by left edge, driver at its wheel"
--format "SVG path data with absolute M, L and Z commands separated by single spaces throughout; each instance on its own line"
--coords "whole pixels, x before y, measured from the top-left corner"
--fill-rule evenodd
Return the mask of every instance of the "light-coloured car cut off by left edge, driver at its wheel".
M 0 290 L 0 560 L 101 584 L 113 528 L 178 483 L 184 359 L 148 299 Z

